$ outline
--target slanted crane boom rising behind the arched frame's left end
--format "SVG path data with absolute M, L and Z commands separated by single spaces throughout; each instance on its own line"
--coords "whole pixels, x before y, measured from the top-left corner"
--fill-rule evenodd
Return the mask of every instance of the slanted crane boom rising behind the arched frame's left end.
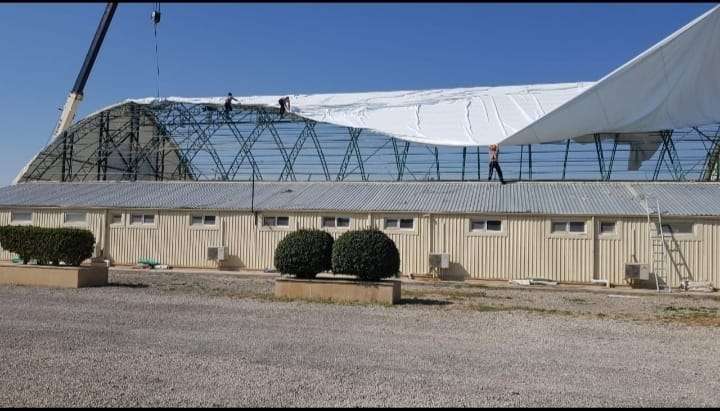
M 73 85 L 72 90 L 70 90 L 70 94 L 65 101 L 63 111 L 60 114 L 60 119 L 58 119 L 57 125 L 55 126 L 52 138 L 55 138 L 58 134 L 65 131 L 65 129 L 67 129 L 75 119 L 75 112 L 77 111 L 78 104 L 83 98 L 85 84 L 87 83 L 90 71 L 95 64 L 95 59 L 97 58 L 100 46 L 102 46 L 102 42 L 105 39 L 105 34 L 110 27 L 110 22 L 112 21 L 116 8 L 117 2 L 114 1 L 108 2 L 105 7 L 105 13 L 103 13 L 102 18 L 100 19 L 100 24 L 98 24 L 98 28 L 95 31 L 95 37 L 93 37 L 93 41 L 90 43 L 90 49 L 85 56 L 85 61 L 80 68 L 80 73 L 78 73 L 77 79 L 75 79 L 75 84 Z

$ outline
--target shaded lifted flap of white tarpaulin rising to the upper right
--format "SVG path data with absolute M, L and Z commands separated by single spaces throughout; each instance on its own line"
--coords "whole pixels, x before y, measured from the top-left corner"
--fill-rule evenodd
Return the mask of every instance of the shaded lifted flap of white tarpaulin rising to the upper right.
M 502 144 L 552 142 L 720 122 L 720 6 Z

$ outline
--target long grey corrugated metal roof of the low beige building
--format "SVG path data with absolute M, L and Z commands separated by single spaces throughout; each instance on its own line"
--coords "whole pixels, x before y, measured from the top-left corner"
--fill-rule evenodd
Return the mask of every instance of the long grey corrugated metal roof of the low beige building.
M 23 183 L 0 207 L 249 210 L 248 182 Z M 718 183 L 257 182 L 256 210 L 720 216 Z

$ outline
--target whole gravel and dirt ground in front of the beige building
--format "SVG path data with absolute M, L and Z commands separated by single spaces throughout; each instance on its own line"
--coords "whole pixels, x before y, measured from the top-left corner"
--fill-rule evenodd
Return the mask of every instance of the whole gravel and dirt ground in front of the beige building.
M 385 307 L 110 280 L 0 286 L 0 406 L 720 405 L 712 298 L 403 284 Z

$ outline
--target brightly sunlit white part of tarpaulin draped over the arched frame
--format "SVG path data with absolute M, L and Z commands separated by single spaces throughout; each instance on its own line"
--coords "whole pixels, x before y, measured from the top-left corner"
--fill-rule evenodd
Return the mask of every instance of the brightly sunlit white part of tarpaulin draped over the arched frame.
M 593 83 L 290 95 L 293 114 L 402 140 L 448 146 L 497 143 L 587 90 Z M 283 96 L 236 97 L 239 105 L 279 107 Z M 130 99 L 222 105 L 225 97 Z

